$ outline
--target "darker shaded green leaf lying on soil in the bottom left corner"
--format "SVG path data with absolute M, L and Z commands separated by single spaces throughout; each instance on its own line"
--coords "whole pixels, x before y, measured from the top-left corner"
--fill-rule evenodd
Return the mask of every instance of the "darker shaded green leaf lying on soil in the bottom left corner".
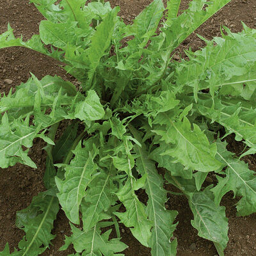
M 58 199 L 40 193 L 33 198 L 28 208 L 17 212 L 16 225 L 26 235 L 19 243 L 19 252 L 12 255 L 37 256 L 43 253 L 55 237 L 51 230 L 58 211 Z

